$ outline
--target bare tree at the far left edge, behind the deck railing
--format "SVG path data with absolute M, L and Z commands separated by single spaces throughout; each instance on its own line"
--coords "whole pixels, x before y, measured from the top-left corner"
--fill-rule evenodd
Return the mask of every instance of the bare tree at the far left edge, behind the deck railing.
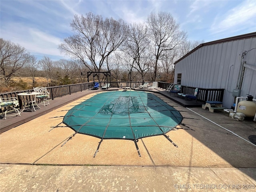
M 6 86 L 20 68 L 28 62 L 30 54 L 25 48 L 0 38 L 0 72 Z

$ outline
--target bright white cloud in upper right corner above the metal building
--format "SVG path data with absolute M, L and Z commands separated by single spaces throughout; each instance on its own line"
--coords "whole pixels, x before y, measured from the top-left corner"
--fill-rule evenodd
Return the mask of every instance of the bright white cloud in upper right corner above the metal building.
M 228 30 L 239 31 L 248 26 L 254 27 L 256 20 L 256 1 L 247 0 L 235 8 L 229 10 L 225 15 L 217 16 L 210 27 L 212 33 L 224 32 Z

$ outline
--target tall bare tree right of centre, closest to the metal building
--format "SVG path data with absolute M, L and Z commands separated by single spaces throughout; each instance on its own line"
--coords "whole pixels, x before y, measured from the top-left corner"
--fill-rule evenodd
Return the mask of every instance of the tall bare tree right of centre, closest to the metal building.
M 186 39 L 186 33 L 179 29 L 170 13 L 158 12 L 150 13 L 147 19 L 149 37 L 152 41 L 152 54 L 154 61 L 154 80 L 158 71 L 158 61 L 168 50 L 174 49 L 182 40 Z

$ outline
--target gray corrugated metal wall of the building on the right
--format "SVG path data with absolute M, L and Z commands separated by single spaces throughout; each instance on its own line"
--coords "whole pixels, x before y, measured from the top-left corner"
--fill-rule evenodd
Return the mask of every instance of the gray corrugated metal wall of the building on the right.
M 231 108 L 232 91 L 236 88 L 241 56 L 246 64 L 256 66 L 256 37 L 221 42 L 200 47 L 175 64 L 175 76 L 182 74 L 181 84 L 200 88 L 223 88 L 223 105 Z M 256 71 L 246 68 L 241 96 L 250 94 L 256 98 Z

